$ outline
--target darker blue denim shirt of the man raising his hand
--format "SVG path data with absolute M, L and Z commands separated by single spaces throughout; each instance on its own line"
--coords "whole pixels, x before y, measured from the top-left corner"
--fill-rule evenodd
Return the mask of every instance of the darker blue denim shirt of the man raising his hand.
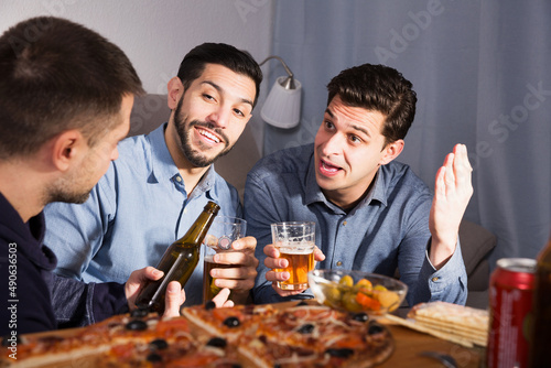
M 316 223 L 316 246 L 325 255 L 318 269 L 363 270 L 395 275 L 408 284 L 408 303 L 447 301 L 464 304 L 467 275 L 461 246 L 435 270 L 428 257 L 432 195 L 404 164 L 379 169 L 370 192 L 356 207 L 343 210 L 328 202 L 315 180 L 313 144 L 276 152 L 247 175 L 247 232 L 257 238 L 260 260 L 253 289 L 256 303 L 284 301 L 266 280 L 263 247 L 271 243 L 270 224 L 289 220 Z M 306 290 L 294 299 L 312 297 Z

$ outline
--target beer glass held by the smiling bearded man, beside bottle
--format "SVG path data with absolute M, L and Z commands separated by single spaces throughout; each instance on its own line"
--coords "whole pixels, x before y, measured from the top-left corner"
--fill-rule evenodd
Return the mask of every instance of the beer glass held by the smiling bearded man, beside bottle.
M 239 264 L 222 264 L 215 263 L 214 255 L 235 251 L 231 249 L 231 243 L 245 237 L 247 230 L 247 221 L 242 218 L 230 216 L 215 217 L 213 225 L 208 229 L 205 240 L 203 240 L 203 303 L 212 300 L 220 288 L 215 285 L 215 280 L 210 275 L 212 269 L 229 269 L 238 268 Z M 231 295 L 230 295 L 231 299 Z

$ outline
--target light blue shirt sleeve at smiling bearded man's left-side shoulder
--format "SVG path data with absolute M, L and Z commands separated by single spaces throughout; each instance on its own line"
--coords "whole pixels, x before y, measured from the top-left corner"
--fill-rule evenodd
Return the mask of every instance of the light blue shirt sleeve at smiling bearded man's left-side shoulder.
M 111 170 L 112 164 L 108 174 Z M 84 204 L 52 203 L 44 208 L 44 243 L 57 257 L 57 274 L 82 280 L 99 251 L 116 210 L 115 193 L 108 182 L 106 174 Z

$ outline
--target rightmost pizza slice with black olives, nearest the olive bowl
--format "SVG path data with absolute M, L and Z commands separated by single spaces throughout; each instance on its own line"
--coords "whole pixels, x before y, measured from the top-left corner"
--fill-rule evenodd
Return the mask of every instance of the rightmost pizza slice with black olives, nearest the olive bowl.
M 320 305 L 278 311 L 238 346 L 259 367 L 372 367 L 393 348 L 390 332 L 367 314 Z

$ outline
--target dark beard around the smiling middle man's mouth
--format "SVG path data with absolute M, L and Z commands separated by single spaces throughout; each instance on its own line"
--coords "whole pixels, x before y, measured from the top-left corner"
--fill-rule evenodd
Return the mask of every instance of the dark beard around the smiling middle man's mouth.
M 174 126 L 176 127 L 176 132 L 177 136 L 180 137 L 180 148 L 182 149 L 184 156 L 192 165 L 194 165 L 195 167 L 206 167 L 210 165 L 213 162 L 215 162 L 216 159 L 231 151 L 234 145 L 231 147 L 229 145 L 229 139 L 226 137 L 226 134 L 222 129 L 215 128 L 214 125 L 209 122 L 193 120 L 188 122 L 187 127 L 185 127 L 186 121 L 184 121 L 184 119 L 182 119 L 181 116 L 182 100 L 183 96 L 176 106 L 176 110 L 174 111 Z M 193 132 L 193 127 L 195 126 L 210 129 L 212 131 L 216 132 L 219 137 L 222 137 L 225 143 L 224 150 L 213 158 L 208 158 L 203 152 L 194 150 L 191 144 L 191 134 Z M 202 143 L 199 142 L 199 144 Z

